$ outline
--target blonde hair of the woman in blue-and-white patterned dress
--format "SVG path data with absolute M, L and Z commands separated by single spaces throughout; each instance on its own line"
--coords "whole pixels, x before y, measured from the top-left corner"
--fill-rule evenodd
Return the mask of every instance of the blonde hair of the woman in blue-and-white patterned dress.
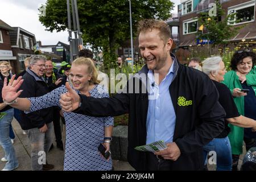
M 87 65 L 87 72 L 92 76 L 89 80 L 89 85 L 99 84 L 98 71 L 93 63 L 93 60 L 89 57 L 79 57 L 72 62 L 72 65 Z

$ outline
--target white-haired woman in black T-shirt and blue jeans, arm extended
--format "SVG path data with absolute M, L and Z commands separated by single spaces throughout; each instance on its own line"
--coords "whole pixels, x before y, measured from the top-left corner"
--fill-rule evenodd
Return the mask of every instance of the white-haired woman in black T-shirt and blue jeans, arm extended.
M 253 127 L 256 130 L 254 119 L 246 118 L 238 113 L 233 96 L 228 87 L 221 83 L 226 73 L 224 62 L 220 56 L 209 57 L 203 61 L 203 72 L 213 81 L 220 95 L 219 102 L 226 111 L 225 129 L 220 135 L 204 146 L 204 157 L 207 159 L 209 151 L 215 151 L 217 156 L 217 169 L 230 171 L 232 169 L 232 151 L 228 138 L 230 128 L 228 124 L 240 127 Z

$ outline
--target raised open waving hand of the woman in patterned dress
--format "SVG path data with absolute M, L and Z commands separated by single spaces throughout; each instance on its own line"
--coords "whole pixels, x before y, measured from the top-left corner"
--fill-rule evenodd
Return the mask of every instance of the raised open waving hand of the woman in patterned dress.
M 5 100 L 5 102 L 12 102 L 14 101 L 19 95 L 22 93 L 23 90 L 17 90 L 20 88 L 20 86 L 23 83 L 22 76 L 19 76 L 17 80 L 15 79 L 15 75 L 11 77 L 11 80 L 9 84 L 7 85 L 7 78 L 5 78 L 5 81 L 3 82 L 3 89 L 2 89 L 2 98 Z

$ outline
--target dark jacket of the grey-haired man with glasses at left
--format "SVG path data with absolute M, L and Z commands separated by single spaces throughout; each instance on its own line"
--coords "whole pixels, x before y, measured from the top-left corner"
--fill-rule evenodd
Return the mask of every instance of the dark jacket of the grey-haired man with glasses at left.
M 27 69 L 27 72 L 22 77 L 24 79 L 20 90 L 23 90 L 20 97 L 39 97 L 49 92 L 49 88 L 42 78 L 38 77 L 31 69 Z M 23 130 L 33 129 L 37 127 L 43 127 L 44 124 L 52 122 L 52 109 L 42 109 L 34 111 L 28 114 L 22 112 L 22 122 L 20 126 Z

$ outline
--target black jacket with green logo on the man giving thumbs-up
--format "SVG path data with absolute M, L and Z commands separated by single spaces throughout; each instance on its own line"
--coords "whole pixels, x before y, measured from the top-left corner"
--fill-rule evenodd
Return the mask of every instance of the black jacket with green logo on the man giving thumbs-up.
M 172 162 L 171 169 L 200 170 L 204 166 L 202 147 L 224 130 L 225 111 L 218 102 L 217 89 L 209 77 L 177 63 L 176 57 L 171 56 L 174 59 L 175 71 L 169 88 L 176 113 L 174 142 L 181 152 L 180 157 Z M 142 73 L 148 73 L 146 65 L 139 75 Z M 75 112 L 96 117 L 129 113 L 127 158 L 135 169 L 145 170 L 146 155 L 134 150 L 134 147 L 146 144 L 147 134 L 148 94 L 142 93 L 146 85 L 143 79 L 138 75 L 133 78 L 134 82 L 138 79 L 139 93 L 121 93 L 111 98 L 80 96 L 82 105 Z M 179 102 L 181 97 L 189 102 Z

